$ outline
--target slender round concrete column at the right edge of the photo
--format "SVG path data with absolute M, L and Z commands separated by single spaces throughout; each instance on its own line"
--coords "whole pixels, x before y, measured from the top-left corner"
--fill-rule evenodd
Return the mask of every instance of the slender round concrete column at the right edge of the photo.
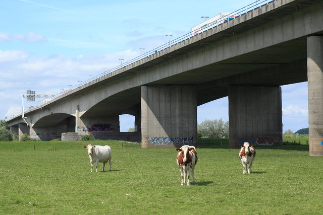
M 307 37 L 309 155 L 323 156 L 323 36 Z

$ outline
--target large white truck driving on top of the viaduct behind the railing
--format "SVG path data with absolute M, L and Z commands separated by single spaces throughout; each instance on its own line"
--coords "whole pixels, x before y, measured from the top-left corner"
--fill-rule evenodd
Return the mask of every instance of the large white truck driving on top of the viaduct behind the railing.
M 228 16 L 232 13 L 221 13 L 217 16 L 214 16 L 208 20 L 205 20 L 204 22 L 192 27 L 192 32 L 194 32 L 194 36 L 202 33 L 203 31 L 206 31 L 210 28 L 213 28 L 214 26 L 217 26 L 219 24 L 223 24 L 225 22 L 228 22 L 229 20 L 234 19 L 236 16 Z

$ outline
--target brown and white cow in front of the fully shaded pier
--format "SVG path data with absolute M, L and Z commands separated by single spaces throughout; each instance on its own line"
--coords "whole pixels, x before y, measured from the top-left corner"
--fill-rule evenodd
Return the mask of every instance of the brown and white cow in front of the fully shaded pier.
M 244 142 L 243 145 L 240 145 L 241 149 L 239 151 L 239 158 L 243 166 L 243 174 L 251 173 L 252 161 L 256 157 L 256 150 L 253 148 L 253 145 L 249 142 Z

